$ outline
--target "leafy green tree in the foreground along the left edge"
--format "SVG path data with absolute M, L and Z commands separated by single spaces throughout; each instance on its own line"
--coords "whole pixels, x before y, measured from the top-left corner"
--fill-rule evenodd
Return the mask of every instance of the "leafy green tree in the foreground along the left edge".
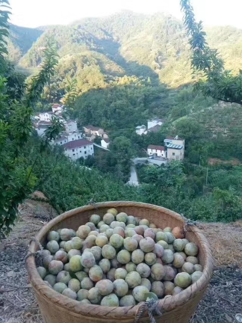
M 24 78 L 5 58 L 9 34 L 9 11 L 5 8 L 9 8 L 8 5 L 8 1 L 0 1 L 0 237 L 10 232 L 18 204 L 35 185 L 34 164 L 26 164 L 23 151 L 32 130 L 32 106 L 40 98 L 57 64 L 56 53 L 46 48 L 38 74 L 26 86 Z M 52 130 L 46 133 L 45 141 L 41 141 L 42 150 L 53 139 L 56 129 Z

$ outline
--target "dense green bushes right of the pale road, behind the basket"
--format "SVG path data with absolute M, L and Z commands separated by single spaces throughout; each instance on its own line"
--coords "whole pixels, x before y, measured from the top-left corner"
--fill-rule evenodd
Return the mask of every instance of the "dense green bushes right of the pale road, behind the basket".
M 206 167 L 171 162 L 167 166 L 139 166 L 144 202 L 165 206 L 193 220 L 241 219 L 242 167 Z

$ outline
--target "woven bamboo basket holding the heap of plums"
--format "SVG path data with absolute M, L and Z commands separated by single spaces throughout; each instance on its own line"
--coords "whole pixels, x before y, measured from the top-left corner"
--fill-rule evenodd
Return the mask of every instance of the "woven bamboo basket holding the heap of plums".
M 146 218 L 160 228 L 165 228 L 166 226 L 184 226 L 184 219 L 181 215 L 161 206 L 126 201 L 103 202 L 96 203 L 95 205 L 82 206 L 57 216 L 39 231 L 36 239 L 43 245 L 45 244 L 47 233 L 50 230 L 58 230 L 60 228 L 72 228 L 76 230 L 80 225 L 89 221 L 91 214 L 103 215 L 111 207 L 115 207 L 119 212 L 125 212 L 128 215 Z M 200 264 L 204 267 L 204 275 L 196 283 L 187 287 L 178 295 L 161 299 L 158 305 L 163 315 L 159 317 L 155 316 L 156 322 L 187 323 L 202 298 L 212 275 L 213 258 L 204 235 L 197 227 L 189 226 L 185 236 L 189 241 L 197 243 L 199 247 L 198 258 Z M 33 241 L 30 244 L 29 252 L 36 252 L 37 250 L 39 250 L 39 246 Z M 35 257 L 33 255 L 27 259 L 27 272 L 44 323 L 133 323 L 141 310 L 142 303 L 130 307 L 104 307 L 80 303 L 79 301 L 59 294 L 43 282 L 37 272 Z M 139 322 L 150 322 L 147 312 L 142 315 Z

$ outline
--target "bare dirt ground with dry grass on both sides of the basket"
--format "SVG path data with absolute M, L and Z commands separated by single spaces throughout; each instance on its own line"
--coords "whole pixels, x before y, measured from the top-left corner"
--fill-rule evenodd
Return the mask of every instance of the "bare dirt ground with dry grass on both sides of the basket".
M 48 203 L 35 200 L 26 200 L 19 211 L 13 232 L 0 243 L 0 322 L 41 323 L 24 258 L 30 238 L 57 214 Z M 191 323 L 233 323 L 242 312 L 242 221 L 204 223 L 200 228 L 210 241 L 216 267 Z

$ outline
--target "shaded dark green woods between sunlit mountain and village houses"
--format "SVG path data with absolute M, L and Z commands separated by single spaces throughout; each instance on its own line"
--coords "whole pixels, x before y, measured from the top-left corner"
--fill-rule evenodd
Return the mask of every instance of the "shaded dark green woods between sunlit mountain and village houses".
M 124 76 L 106 89 L 90 90 L 81 95 L 75 102 L 73 113 L 82 125 L 91 123 L 106 129 L 134 128 L 139 123 L 146 123 L 151 114 L 162 115 L 167 97 L 168 91 L 162 85 L 150 86 L 137 77 Z

